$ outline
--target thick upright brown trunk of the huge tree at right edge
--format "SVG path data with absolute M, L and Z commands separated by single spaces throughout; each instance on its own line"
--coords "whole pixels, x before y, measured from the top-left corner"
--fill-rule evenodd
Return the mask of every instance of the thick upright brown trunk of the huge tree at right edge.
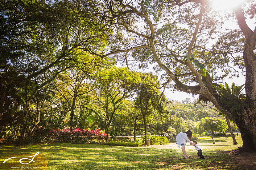
M 251 108 L 236 119 L 236 124 L 241 132 L 243 148 L 256 150 L 256 60 L 254 55 L 256 43 L 256 27 L 252 31 L 246 23 L 242 8 L 235 10 L 237 23 L 242 30 L 246 44 L 243 51 L 243 59 L 246 68 L 246 101 L 251 104 Z

